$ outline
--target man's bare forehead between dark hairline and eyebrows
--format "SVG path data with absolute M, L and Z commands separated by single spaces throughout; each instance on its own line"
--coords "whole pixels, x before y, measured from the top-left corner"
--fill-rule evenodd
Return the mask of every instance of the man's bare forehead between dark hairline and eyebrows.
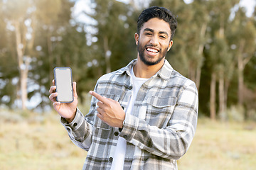
M 145 28 L 150 28 L 151 30 L 154 30 L 154 32 L 166 32 L 171 35 L 171 28 L 169 26 L 169 23 L 166 21 L 159 19 L 159 18 L 151 18 L 149 21 L 146 21 L 146 23 L 143 24 L 142 29 L 140 32 L 142 33 Z

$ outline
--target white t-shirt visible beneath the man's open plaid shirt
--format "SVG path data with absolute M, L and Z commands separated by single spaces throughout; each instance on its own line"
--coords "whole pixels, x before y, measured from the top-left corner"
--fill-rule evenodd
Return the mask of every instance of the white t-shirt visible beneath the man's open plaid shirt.
M 132 96 L 129 100 L 129 104 L 127 106 L 126 114 L 132 113 L 132 108 L 134 106 L 134 101 L 136 100 L 139 89 L 142 84 L 146 82 L 148 79 L 137 78 L 134 75 L 133 67 L 131 69 L 132 74 Z M 119 137 L 117 141 L 117 147 L 114 152 L 113 162 L 111 166 L 111 170 L 122 170 L 124 168 L 124 157 L 126 152 L 127 141 L 124 140 L 123 137 Z

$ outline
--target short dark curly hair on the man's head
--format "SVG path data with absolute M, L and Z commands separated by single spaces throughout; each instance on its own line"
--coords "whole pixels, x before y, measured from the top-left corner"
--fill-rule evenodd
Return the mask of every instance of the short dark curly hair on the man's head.
M 171 40 L 174 37 L 175 30 L 177 28 L 177 20 L 171 11 L 164 7 L 159 6 L 151 6 L 149 8 L 144 9 L 142 13 L 139 15 L 138 21 L 137 21 L 137 33 L 139 34 L 142 26 L 144 23 L 149 21 L 151 18 L 159 18 L 166 23 L 169 23 L 169 26 L 171 28 Z

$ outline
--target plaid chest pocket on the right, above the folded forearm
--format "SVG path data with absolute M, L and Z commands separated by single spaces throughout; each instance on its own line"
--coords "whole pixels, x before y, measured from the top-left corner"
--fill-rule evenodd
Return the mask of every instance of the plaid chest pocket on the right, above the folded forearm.
M 165 128 L 174 112 L 177 98 L 151 96 L 146 102 L 146 121 L 149 125 Z

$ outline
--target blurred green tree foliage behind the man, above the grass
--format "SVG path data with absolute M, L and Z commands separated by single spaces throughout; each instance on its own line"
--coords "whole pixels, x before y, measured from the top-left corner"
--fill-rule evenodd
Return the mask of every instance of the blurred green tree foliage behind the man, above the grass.
M 151 0 L 150 6 L 164 6 L 176 14 L 178 28 L 174 45 L 166 59 L 174 69 L 196 81 L 199 90 L 200 113 L 209 115 L 211 73 L 225 79 L 228 107 L 238 101 L 238 53 L 247 59 L 243 70 L 245 108 L 255 109 L 255 16 L 248 18 L 244 8 L 238 8 L 230 18 L 231 8 L 239 0 L 194 0 L 186 4 L 180 0 Z M 117 0 L 90 1 L 96 24 L 79 23 L 72 18 L 76 1 L 68 0 L 7 0 L 0 1 L 0 105 L 17 107 L 20 96 L 16 41 L 11 21 L 23 17 L 22 38 L 33 40 L 32 48 L 24 47 L 31 57 L 28 71 L 28 99 L 41 98 L 38 108 L 49 108 L 48 89 L 53 79 L 53 68 L 68 66 L 73 69 L 73 80 L 78 83 L 80 103 L 87 102 L 87 91 L 106 72 L 124 67 L 137 57 L 134 33 L 137 17 L 144 6 L 134 1 L 124 4 Z M 145 4 L 145 1 L 137 1 Z M 255 13 L 254 13 L 255 15 Z M 26 21 L 26 22 L 24 22 Z M 90 26 L 90 31 L 84 29 Z M 241 50 L 240 43 L 246 45 Z M 89 43 L 88 43 L 89 42 Z M 26 56 L 25 56 L 26 57 Z M 223 74 L 224 73 L 224 74 Z M 200 86 L 199 86 L 200 84 Z M 216 84 L 218 85 L 218 78 Z M 216 89 L 218 103 L 218 86 Z M 216 105 L 218 108 L 218 104 Z M 230 110 L 228 110 L 230 111 Z

